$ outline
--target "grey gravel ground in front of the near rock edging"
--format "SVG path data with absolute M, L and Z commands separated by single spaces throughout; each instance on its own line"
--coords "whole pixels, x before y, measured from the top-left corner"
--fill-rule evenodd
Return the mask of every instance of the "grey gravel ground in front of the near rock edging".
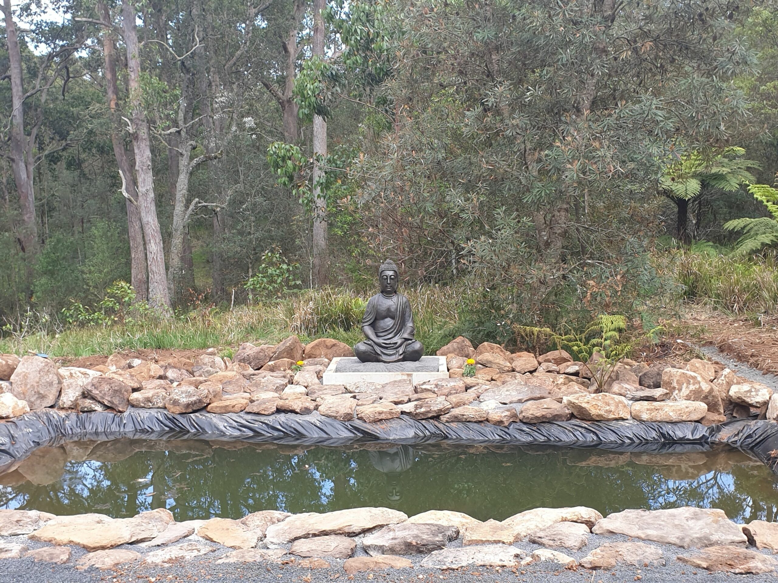
M 361 539 L 362 537 L 357 537 Z M 428 569 L 420 567 L 422 559 L 426 555 L 416 557 L 407 557 L 412 560 L 414 568 L 412 569 L 390 569 L 387 571 L 373 571 L 357 573 L 353 576 L 345 574 L 342 564 L 343 560 L 327 559 L 331 564 L 329 569 L 303 569 L 294 567 L 291 564 L 279 565 L 272 563 L 250 563 L 250 564 L 216 564 L 216 559 L 230 552 L 223 546 L 214 543 L 207 543 L 195 537 L 199 543 L 209 544 L 216 547 L 216 551 L 204 557 L 197 557 L 173 567 L 149 567 L 143 564 L 123 565 L 116 571 L 98 571 L 90 568 L 85 571 L 77 571 L 75 562 L 86 554 L 79 547 L 72 547 L 72 557 L 68 564 L 52 565 L 47 563 L 37 563 L 32 559 L 5 559 L 0 560 L 0 582 L 2 583 L 87 583 L 88 581 L 109 581 L 110 583 L 121 583 L 129 581 L 225 581 L 237 583 L 240 581 L 261 581 L 268 583 L 271 581 L 300 581 L 300 583 L 324 583 L 324 581 L 335 581 L 344 579 L 345 581 L 410 581 L 426 580 L 429 583 L 433 581 L 478 581 L 480 583 L 491 582 L 506 583 L 506 581 L 531 581 L 531 583 L 545 583 L 545 581 L 576 581 L 580 583 L 612 583 L 621 581 L 643 581 L 650 583 L 685 583 L 685 581 L 706 581 L 706 583 L 717 583 L 718 581 L 749 581 L 749 583 L 762 583 L 770 581 L 774 583 L 778 580 L 775 573 L 762 575 L 734 575 L 728 573 L 708 573 L 704 569 L 695 569 L 687 564 L 683 564 L 675 557 L 678 554 L 691 555 L 695 550 L 685 550 L 676 546 L 661 546 L 667 564 L 664 567 L 629 567 L 619 565 L 615 570 L 588 571 L 579 567 L 576 570 L 566 570 L 555 568 L 551 564 L 532 564 L 527 567 L 513 568 L 492 568 L 492 567 L 465 567 L 458 571 L 440 571 L 438 569 Z M 186 539 L 185 539 L 186 540 Z M 191 539 L 189 539 L 191 540 Z M 580 560 L 591 550 L 603 543 L 626 541 L 625 536 L 594 536 L 589 537 L 589 546 L 584 546 L 580 551 L 566 551 L 559 549 L 569 556 Z M 24 536 L 14 536 L 0 538 L 5 543 L 23 543 L 33 548 L 47 546 L 41 543 L 29 541 Z M 181 541 L 184 542 L 184 541 Z M 461 543 L 451 543 L 450 546 L 457 546 Z M 654 543 L 648 543 L 654 544 Z M 532 543 L 517 543 L 517 547 L 531 553 L 533 550 L 542 548 Z M 149 553 L 152 549 L 143 549 L 135 545 L 122 545 L 117 548 L 137 550 L 142 554 Z M 155 547 L 161 548 L 161 547 Z M 752 549 L 753 550 L 753 549 Z M 361 544 L 357 546 L 355 556 L 364 556 Z

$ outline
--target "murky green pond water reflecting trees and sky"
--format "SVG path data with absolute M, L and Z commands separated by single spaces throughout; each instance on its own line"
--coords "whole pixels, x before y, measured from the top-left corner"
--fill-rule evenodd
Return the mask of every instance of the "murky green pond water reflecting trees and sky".
M 179 521 L 258 510 L 386 506 L 502 520 L 539 506 L 722 508 L 775 521 L 778 482 L 733 449 L 636 453 L 517 446 L 347 448 L 192 440 L 68 442 L 0 475 L 0 508 L 116 518 L 169 508 Z

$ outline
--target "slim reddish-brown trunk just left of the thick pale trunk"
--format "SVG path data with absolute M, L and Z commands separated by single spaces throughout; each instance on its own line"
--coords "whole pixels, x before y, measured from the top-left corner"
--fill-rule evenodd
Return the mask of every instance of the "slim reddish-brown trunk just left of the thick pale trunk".
M 110 12 L 104 2 L 97 3 L 97 10 L 100 18 L 105 23 L 110 23 Z M 115 53 L 114 33 L 110 29 L 103 31 L 103 57 L 105 58 L 105 86 L 106 99 L 111 113 L 110 141 L 114 145 L 114 155 L 116 164 L 124 177 L 125 190 L 131 197 L 137 197 L 135 190 L 135 175 L 132 172 L 127 150 L 124 148 L 124 142 L 119 134 L 116 104 L 117 104 L 117 81 L 116 81 L 116 63 L 114 61 Z M 138 211 L 137 201 L 133 202 L 129 198 L 125 199 L 127 204 L 127 225 L 130 239 L 130 284 L 135 288 L 135 297 L 139 301 L 145 301 L 149 298 L 149 281 L 146 278 L 146 259 L 145 246 L 143 245 L 143 225 L 141 224 L 141 214 Z

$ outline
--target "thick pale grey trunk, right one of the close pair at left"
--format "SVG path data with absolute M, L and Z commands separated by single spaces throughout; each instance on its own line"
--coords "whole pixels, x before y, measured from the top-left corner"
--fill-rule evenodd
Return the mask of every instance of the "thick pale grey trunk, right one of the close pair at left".
M 132 144 L 135 147 L 135 173 L 138 177 L 138 208 L 146 244 L 146 260 L 149 265 L 149 305 L 163 313 L 170 312 L 170 295 L 167 291 L 165 254 L 162 232 L 156 218 L 154 176 L 151 165 L 149 127 L 141 103 L 141 61 L 138 31 L 135 19 L 138 12 L 131 0 L 121 4 L 124 44 L 127 45 L 127 71 L 130 104 L 132 107 Z

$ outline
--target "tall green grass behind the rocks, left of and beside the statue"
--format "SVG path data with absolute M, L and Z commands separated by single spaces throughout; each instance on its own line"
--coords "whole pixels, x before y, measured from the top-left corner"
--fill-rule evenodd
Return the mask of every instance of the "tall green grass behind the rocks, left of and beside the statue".
M 404 290 L 411 302 L 416 337 L 427 354 L 460 332 L 459 314 L 467 295 L 458 288 L 419 286 Z M 275 344 L 289 334 L 303 342 L 332 337 L 356 344 L 369 295 L 326 288 L 290 294 L 280 302 L 240 306 L 226 312 L 192 312 L 178 319 L 148 317 L 128 325 L 59 328 L 27 326 L 0 338 L 0 352 L 79 357 L 118 351 L 217 347 L 230 354 L 241 342 Z

